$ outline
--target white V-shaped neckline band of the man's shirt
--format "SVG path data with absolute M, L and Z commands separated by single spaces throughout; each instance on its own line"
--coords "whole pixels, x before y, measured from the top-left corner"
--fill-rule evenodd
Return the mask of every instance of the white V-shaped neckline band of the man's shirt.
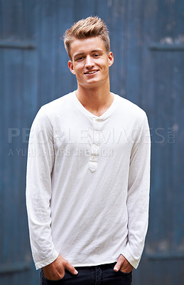
M 91 113 L 89 110 L 87 110 L 82 103 L 80 103 L 80 100 L 77 98 L 77 95 L 75 93 L 76 91 L 73 92 L 73 97 L 75 98 L 75 102 L 77 103 L 78 108 L 80 108 L 80 110 L 82 111 L 82 113 L 85 113 L 86 115 L 90 116 L 91 118 L 97 118 L 97 119 L 102 119 L 102 118 L 106 118 L 108 115 L 110 115 L 114 109 L 115 109 L 115 105 L 117 103 L 117 94 L 114 94 L 114 99 L 112 101 L 112 104 L 109 106 L 109 108 L 104 111 L 104 113 L 102 113 L 102 115 L 97 116 L 94 115 L 93 113 Z

